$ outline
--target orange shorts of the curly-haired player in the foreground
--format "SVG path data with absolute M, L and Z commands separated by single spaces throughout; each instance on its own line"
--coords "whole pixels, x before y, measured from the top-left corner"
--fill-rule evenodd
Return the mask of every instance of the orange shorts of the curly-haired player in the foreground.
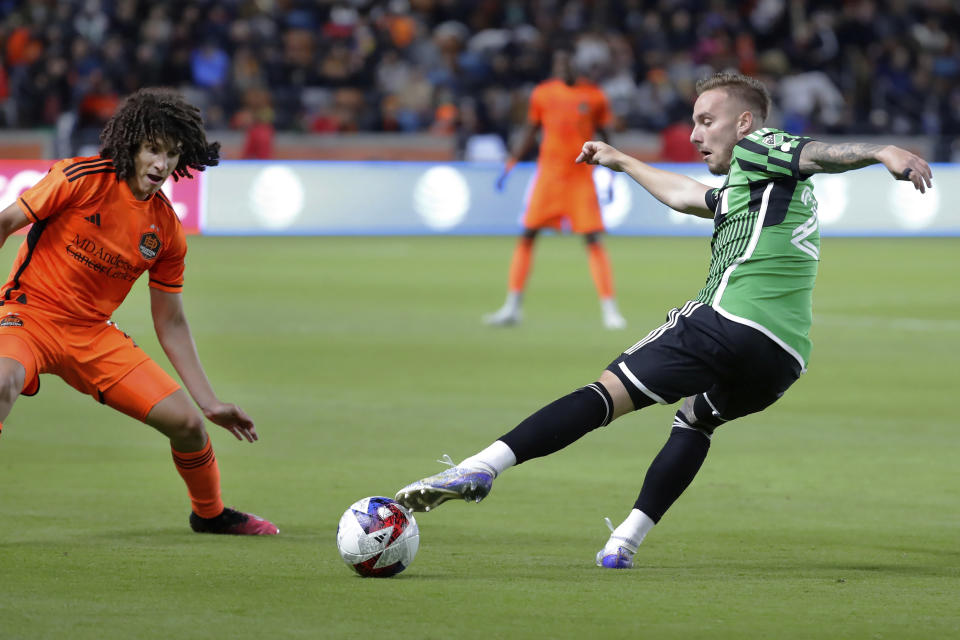
M 39 374 L 53 373 L 137 420 L 180 388 L 113 322 L 69 324 L 16 303 L 0 307 L 0 357 L 23 365 L 24 395 L 39 391 Z

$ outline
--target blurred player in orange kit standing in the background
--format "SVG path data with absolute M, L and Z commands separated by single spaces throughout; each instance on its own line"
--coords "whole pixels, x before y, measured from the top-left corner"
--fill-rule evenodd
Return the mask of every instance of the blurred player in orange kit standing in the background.
M 607 139 L 604 127 L 610 117 L 610 105 L 603 92 L 578 79 L 572 51 L 555 51 L 553 77 L 534 88 L 525 130 L 497 180 L 497 188 L 502 189 L 507 175 L 517 160 L 530 151 L 537 132 L 542 129 L 536 183 L 524 215 L 524 231 L 510 263 L 507 299 L 500 309 L 484 317 L 487 324 L 520 322 L 537 234 L 544 228 L 563 229 L 566 222 L 574 233 L 582 234 L 586 240 L 590 273 L 600 296 L 604 326 L 608 329 L 626 326 L 613 295 L 610 260 L 600 242 L 604 227 L 593 183 L 593 167 L 574 162 L 583 140 L 595 136 Z

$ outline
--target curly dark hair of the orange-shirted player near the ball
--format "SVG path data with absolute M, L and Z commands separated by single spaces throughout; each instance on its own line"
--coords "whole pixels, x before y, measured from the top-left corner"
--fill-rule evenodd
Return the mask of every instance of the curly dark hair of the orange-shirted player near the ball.
M 207 142 L 200 110 L 177 91 L 145 88 L 123 101 L 100 133 L 100 157 L 113 160 L 117 180 L 134 174 L 133 159 L 144 141 L 181 147 L 173 179 L 192 178 L 220 162 L 220 143 Z

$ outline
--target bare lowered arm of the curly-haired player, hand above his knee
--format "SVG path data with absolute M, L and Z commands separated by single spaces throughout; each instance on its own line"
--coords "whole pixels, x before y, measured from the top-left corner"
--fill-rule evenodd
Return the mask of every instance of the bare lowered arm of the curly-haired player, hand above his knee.
M 181 295 L 151 287 L 150 312 L 160 346 L 207 420 L 220 425 L 237 440 L 257 440 L 257 429 L 250 416 L 235 404 L 220 402 L 213 392 L 203 365 L 200 364 L 200 356 L 197 355 L 197 346 L 183 311 Z

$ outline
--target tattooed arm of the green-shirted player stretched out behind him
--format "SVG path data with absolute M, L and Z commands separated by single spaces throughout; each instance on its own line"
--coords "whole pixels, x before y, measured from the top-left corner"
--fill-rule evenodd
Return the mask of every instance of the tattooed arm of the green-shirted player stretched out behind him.
M 897 180 L 912 182 L 920 193 L 926 193 L 933 186 L 930 165 L 920 156 L 892 144 L 814 141 L 800 151 L 802 173 L 842 173 L 877 163 L 882 163 Z

